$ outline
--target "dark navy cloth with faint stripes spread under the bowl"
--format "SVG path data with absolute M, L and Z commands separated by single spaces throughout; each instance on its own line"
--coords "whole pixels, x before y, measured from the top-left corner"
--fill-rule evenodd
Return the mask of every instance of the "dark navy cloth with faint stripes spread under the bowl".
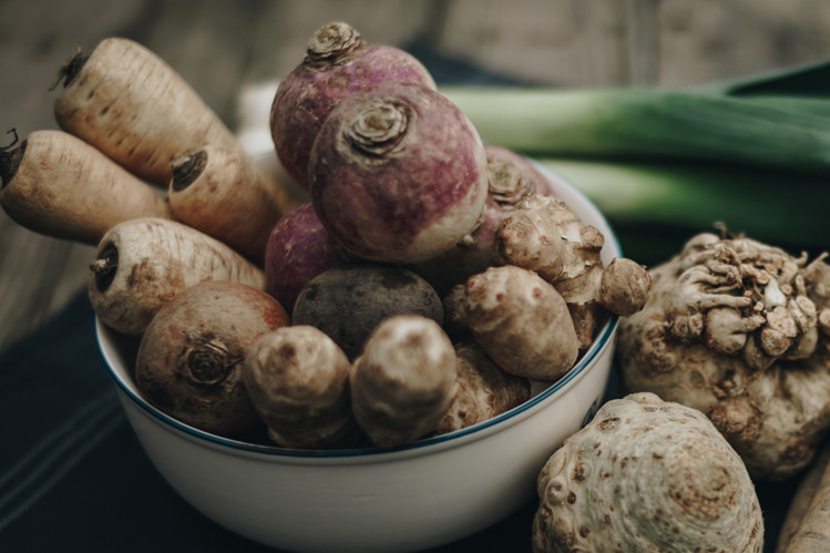
M 515 84 L 423 44 L 410 51 L 440 83 Z M 758 487 L 765 551 L 796 484 Z M 436 551 L 530 551 L 535 508 Z M 273 551 L 203 516 L 151 464 L 100 356 L 85 293 L 0 357 L 0 552 L 58 551 Z

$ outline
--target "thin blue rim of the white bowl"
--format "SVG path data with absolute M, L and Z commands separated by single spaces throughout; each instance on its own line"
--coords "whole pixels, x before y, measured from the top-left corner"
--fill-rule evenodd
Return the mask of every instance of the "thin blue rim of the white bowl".
M 623 248 L 622 248 L 622 245 L 619 244 L 619 240 L 616 234 L 611 228 L 611 225 L 608 224 L 608 222 L 605 219 L 605 215 L 596 207 L 596 205 L 591 201 L 591 198 L 588 198 L 585 194 L 583 194 L 582 191 L 573 186 L 564 177 L 560 175 L 554 175 L 554 172 L 550 170 L 549 167 L 541 165 L 535 160 L 531 160 L 531 162 L 533 162 L 534 165 L 541 168 L 543 173 L 547 173 L 549 176 L 555 176 L 556 178 L 559 178 L 560 182 L 563 183 L 570 190 L 571 193 L 580 196 L 580 199 L 584 203 L 584 205 L 588 206 L 591 209 L 595 212 L 595 215 L 611 231 L 609 238 L 614 245 L 616 256 L 623 257 Z M 608 237 L 606 237 L 606 239 Z M 96 325 L 103 326 L 103 324 L 100 321 L 98 317 L 95 317 L 95 322 Z M 101 344 L 101 334 L 100 331 L 98 331 L 98 329 L 95 331 L 95 337 L 96 337 L 99 351 L 101 352 L 101 356 L 105 360 L 104 365 L 106 366 L 106 370 L 109 371 L 110 377 L 115 381 L 117 387 L 126 395 L 126 397 L 130 398 L 130 400 L 133 403 L 139 406 L 144 412 L 150 414 L 155 420 L 164 423 L 165 426 L 172 427 L 181 432 L 184 432 L 191 438 L 195 438 L 197 440 L 204 440 L 215 446 L 223 446 L 223 447 L 227 447 L 237 451 L 262 453 L 262 454 L 266 454 L 270 457 L 279 457 L 279 458 L 287 458 L 287 459 L 348 459 L 348 458 L 379 458 L 379 457 L 393 455 L 396 453 L 407 452 L 407 451 L 410 451 L 410 452 L 420 451 L 427 448 L 432 448 L 438 444 L 443 444 L 443 443 L 448 443 L 451 441 L 455 441 L 455 440 L 459 440 L 460 438 L 469 437 L 472 434 L 482 433 L 483 436 L 484 430 L 490 429 L 503 421 L 515 419 L 520 414 L 527 412 L 529 410 L 533 409 L 534 407 L 542 403 L 543 401 L 549 400 L 549 398 L 556 395 L 556 392 L 565 388 L 568 383 L 571 383 L 578 376 L 585 372 L 585 370 L 588 368 L 591 362 L 594 359 L 596 359 L 596 357 L 606 346 L 609 345 L 608 342 L 613 339 L 614 330 L 616 329 L 618 322 L 619 322 L 619 317 L 612 314 L 608 320 L 602 327 L 597 337 L 594 339 L 593 344 L 591 345 L 591 348 L 588 348 L 585 355 L 583 355 L 576 361 L 576 365 L 574 365 L 571 368 L 571 370 L 568 370 L 565 373 L 565 376 L 563 376 L 562 378 L 553 382 L 551 386 L 549 386 L 547 388 L 545 388 L 544 390 L 542 390 L 534 397 L 530 398 L 524 403 L 518 407 L 514 407 L 513 409 L 505 411 L 501 414 L 498 414 L 493 417 L 492 419 L 479 422 L 471 427 L 467 427 L 461 430 L 455 430 L 453 432 L 449 432 L 445 434 L 434 436 L 430 438 L 422 438 L 420 440 L 416 440 L 413 442 L 398 446 L 396 448 L 389 448 L 389 449 L 381 449 L 381 448 L 375 448 L 375 447 L 331 449 L 331 450 L 288 449 L 288 448 L 280 448 L 278 446 L 265 446 L 265 444 L 257 444 L 257 443 L 234 440 L 230 438 L 224 438 L 222 436 L 213 434 L 211 432 L 206 432 L 204 430 L 199 430 L 197 428 L 191 427 L 166 414 L 165 412 L 156 409 L 155 407 L 150 404 L 144 398 L 136 395 L 132 389 L 130 389 L 130 387 L 127 387 L 122 381 L 122 379 L 119 377 L 119 375 L 115 373 L 115 370 L 110 365 L 110 360 L 106 354 L 104 352 L 102 344 Z

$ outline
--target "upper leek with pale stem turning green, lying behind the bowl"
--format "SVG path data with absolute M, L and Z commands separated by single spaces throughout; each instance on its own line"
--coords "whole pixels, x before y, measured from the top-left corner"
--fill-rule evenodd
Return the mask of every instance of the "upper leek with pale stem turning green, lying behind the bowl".
M 444 89 L 484 142 L 531 156 L 830 171 L 830 117 L 782 101 L 652 89 Z

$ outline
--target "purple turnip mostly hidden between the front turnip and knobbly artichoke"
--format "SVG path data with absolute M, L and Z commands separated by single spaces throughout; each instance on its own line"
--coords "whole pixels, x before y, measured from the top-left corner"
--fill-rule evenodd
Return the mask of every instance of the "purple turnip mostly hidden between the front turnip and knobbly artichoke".
M 485 144 L 484 151 L 490 181 L 481 224 L 443 254 L 409 267 L 441 297 L 493 265 L 495 231 L 519 201 L 533 193 L 553 194 L 551 182 L 526 157 L 493 144 Z

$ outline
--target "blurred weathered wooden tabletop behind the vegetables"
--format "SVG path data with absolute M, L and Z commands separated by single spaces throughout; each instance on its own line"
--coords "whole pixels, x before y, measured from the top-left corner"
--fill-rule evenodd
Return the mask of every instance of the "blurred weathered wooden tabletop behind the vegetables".
M 157 52 L 236 127 L 240 91 L 287 73 L 334 20 L 561 86 L 680 86 L 830 52 L 827 0 L 0 0 L 0 146 L 57 127 L 58 69 L 109 35 Z M 85 289 L 92 252 L 0 213 L 0 351 Z

